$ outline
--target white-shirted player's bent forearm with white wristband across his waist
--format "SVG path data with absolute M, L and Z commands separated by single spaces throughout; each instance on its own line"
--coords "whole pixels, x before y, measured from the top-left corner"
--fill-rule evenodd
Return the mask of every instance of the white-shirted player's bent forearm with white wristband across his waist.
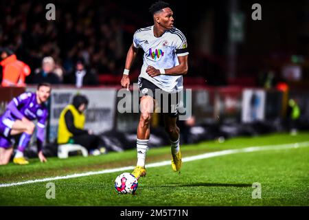
M 178 56 L 179 65 L 172 67 L 170 69 L 155 69 L 155 67 L 148 66 L 146 73 L 151 76 L 168 75 L 168 76 L 180 76 L 187 74 L 188 64 L 187 56 Z

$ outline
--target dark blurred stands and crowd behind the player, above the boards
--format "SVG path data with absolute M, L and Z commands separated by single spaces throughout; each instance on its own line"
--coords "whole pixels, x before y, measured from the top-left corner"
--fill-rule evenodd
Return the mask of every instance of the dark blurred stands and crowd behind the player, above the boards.
M 113 76 L 122 75 L 135 30 L 152 25 L 152 1 L 53 1 L 55 21 L 45 19 L 47 3 L 0 3 L 0 45 L 30 66 L 27 83 L 52 73 L 51 83 L 76 84 L 74 74 L 85 71 L 85 85 L 116 84 Z M 269 87 L 277 80 L 308 80 L 308 1 L 260 1 L 261 21 L 251 19 L 253 3 L 170 1 L 190 48 L 185 83 Z M 135 79 L 141 54 L 131 71 Z M 50 67 L 43 67 L 45 57 Z

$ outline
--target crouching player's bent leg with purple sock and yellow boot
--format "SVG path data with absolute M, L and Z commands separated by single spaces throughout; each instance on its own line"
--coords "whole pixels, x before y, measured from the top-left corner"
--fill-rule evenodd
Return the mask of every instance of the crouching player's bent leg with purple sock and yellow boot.
M 16 154 L 13 159 L 13 162 L 15 164 L 20 164 L 20 165 L 29 164 L 29 162 L 23 156 L 23 152 L 25 151 L 25 148 L 29 144 L 33 132 L 34 132 L 33 122 L 25 123 L 25 122 L 22 122 L 21 120 L 16 120 L 14 124 L 12 125 L 11 135 L 22 133 L 19 139 L 19 144 L 18 144 Z

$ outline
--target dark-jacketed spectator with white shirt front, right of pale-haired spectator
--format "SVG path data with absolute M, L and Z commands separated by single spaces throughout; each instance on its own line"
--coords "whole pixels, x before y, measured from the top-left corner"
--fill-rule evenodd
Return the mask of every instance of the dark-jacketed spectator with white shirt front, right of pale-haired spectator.
M 67 75 L 66 83 L 76 85 L 78 88 L 85 85 L 98 85 L 98 76 L 93 70 L 86 68 L 84 60 L 79 59 L 73 72 Z

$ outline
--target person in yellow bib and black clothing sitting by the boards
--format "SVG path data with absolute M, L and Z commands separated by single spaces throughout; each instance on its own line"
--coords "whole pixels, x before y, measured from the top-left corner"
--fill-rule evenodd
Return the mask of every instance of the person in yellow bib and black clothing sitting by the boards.
M 87 148 L 91 155 L 100 154 L 99 147 L 102 139 L 94 135 L 93 131 L 84 129 L 88 99 L 86 96 L 76 95 L 72 104 L 67 105 L 60 113 L 58 124 L 58 144 L 80 144 Z

